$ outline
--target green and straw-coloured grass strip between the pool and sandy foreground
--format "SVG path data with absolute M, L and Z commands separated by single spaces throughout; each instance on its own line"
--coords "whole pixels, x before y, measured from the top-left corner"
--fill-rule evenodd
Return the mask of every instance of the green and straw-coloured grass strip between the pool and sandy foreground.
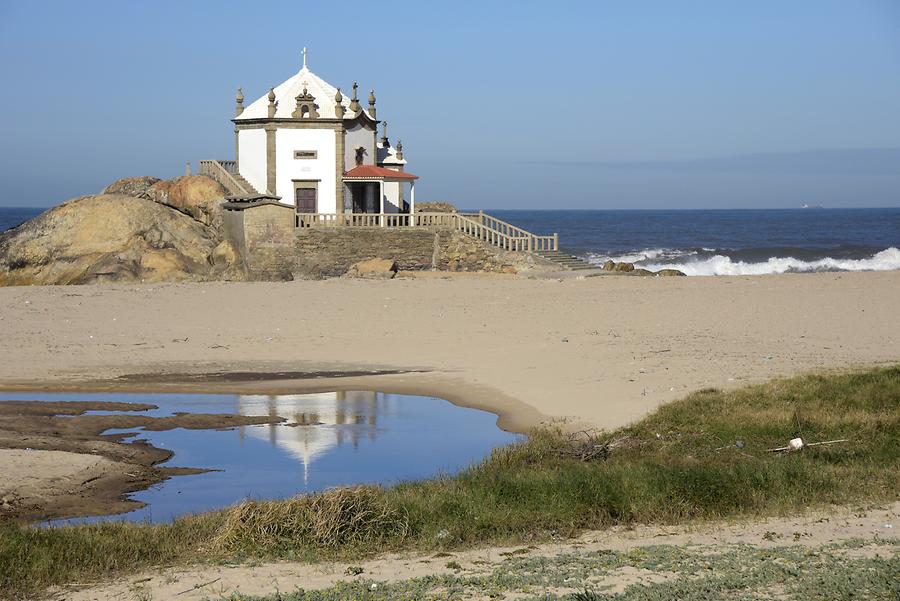
M 766 451 L 795 436 L 850 441 Z M 582 461 L 580 443 L 543 430 L 455 476 L 245 502 L 167 525 L 7 525 L 0 596 L 186 562 L 351 559 L 896 501 L 900 367 L 704 390 L 603 439 L 614 441 L 608 454 Z

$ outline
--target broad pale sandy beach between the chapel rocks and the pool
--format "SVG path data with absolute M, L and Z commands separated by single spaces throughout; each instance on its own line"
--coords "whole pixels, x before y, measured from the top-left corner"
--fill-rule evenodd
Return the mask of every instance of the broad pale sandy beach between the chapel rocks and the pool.
M 513 431 L 612 429 L 704 387 L 894 363 L 898 292 L 900 272 L 2 288 L 0 389 L 375 389 L 486 409 Z M 69 481 L 99 468 L 45 448 L 46 470 L 0 451 L 0 490 L 44 474 L 71 514 Z M 74 475 L 54 480 L 67 456 Z M 15 499 L 52 514 L 56 489 Z

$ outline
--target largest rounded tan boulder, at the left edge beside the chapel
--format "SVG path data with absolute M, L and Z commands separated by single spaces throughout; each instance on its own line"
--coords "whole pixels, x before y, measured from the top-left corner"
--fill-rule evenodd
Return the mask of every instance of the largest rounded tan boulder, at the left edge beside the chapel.
M 0 285 L 208 279 L 219 243 L 213 228 L 162 204 L 84 196 L 0 234 Z

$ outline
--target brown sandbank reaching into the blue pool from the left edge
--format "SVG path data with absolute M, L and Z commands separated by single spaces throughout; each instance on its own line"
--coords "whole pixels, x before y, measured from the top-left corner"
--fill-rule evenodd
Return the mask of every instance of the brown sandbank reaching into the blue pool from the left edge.
M 203 469 L 166 468 L 172 456 L 107 429 L 212 429 L 276 423 L 280 417 L 180 414 L 148 417 L 154 405 L 107 402 L 0 401 L 0 523 L 122 513 L 143 506 L 125 497 L 166 478 Z

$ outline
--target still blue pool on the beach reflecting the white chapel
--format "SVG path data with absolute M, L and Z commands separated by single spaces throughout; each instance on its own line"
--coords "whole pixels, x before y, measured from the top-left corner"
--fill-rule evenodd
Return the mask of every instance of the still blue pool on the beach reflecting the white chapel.
M 176 412 L 280 416 L 281 424 L 229 430 L 140 428 L 134 433 L 174 452 L 167 467 L 211 470 L 176 476 L 130 498 L 146 505 L 124 514 L 78 518 L 167 522 L 173 517 L 227 507 L 244 499 L 276 499 L 353 484 L 390 485 L 452 474 L 483 459 L 492 448 L 518 440 L 500 430 L 496 416 L 433 397 L 381 392 L 297 395 L 0 393 L 0 400 L 124 401 L 157 405 L 137 415 Z M 119 412 L 90 411 L 88 414 Z M 130 412 L 129 412 L 130 413 Z

